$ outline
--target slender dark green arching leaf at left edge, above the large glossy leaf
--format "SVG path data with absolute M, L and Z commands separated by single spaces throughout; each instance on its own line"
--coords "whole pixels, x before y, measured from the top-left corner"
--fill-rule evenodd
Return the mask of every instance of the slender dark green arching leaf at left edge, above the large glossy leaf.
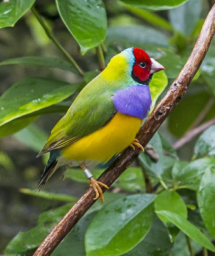
M 20 58 L 12 58 L 12 59 L 8 59 L 0 62 L 0 66 L 14 65 L 14 64 L 60 68 L 60 69 L 68 70 L 77 74 L 76 68 L 74 68 L 74 66 L 71 65 L 69 62 L 60 60 L 57 58 L 51 58 L 51 57 L 26 56 L 26 57 L 20 57 Z

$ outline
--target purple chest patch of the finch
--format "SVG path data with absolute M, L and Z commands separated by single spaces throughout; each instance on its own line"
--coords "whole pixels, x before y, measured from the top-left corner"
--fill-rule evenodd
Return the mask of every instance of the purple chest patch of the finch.
M 117 111 L 129 116 L 144 119 L 149 112 L 152 100 L 149 86 L 130 86 L 125 90 L 118 90 L 113 97 Z

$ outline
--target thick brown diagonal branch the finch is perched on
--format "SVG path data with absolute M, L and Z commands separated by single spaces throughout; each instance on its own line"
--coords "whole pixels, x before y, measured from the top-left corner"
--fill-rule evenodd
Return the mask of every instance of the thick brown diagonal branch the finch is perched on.
M 152 111 L 149 118 L 145 120 L 144 125 L 138 132 L 137 139 L 145 147 L 151 140 L 154 133 L 158 130 L 159 126 L 167 118 L 170 112 L 179 103 L 184 93 L 188 88 L 189 83 L 196 74 L 200 67 L 205 54 L 209 49 L 212 37 L 215 30 L 215 5 L 212 7 L 209 15 L 205 19 L 202 31 L 198 36 L 198 40 L 188 58 L 188 61 L 182 68 L 179 76 L 175 79 L 174 83 L 170 86 L 167 94 Z M 112 163 L 105 172 L 103 172 L 98 180 L 111 186 L 115 180 L 126 170 L 130 164 L 138 157 L 141 150 L 133 150 L 126 148 L 121 156 Z M 103 189 L 105 191 L 106 189 Z M 50 255 L 64 237 L 70 232 L 71 228 L 84 216 L 85 212 L 94 204 L 94 191 L 92 188 L 87 189 L 85 194 L 71 207 L 70 211 L 66 213 L 59 223 L 51 230 L 50 234 L 45 238 L 43 243 L 40 244 L 34 256 Z

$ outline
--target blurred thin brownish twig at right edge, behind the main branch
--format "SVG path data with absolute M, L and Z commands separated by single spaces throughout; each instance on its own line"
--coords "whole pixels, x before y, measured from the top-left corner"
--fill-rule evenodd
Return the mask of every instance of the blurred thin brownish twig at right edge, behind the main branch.
M 212 118 L 211 120 L 209 120 L 205 124 L 199 125 L 195 129 L 193 129 L 189 132 L 186 132 L 186 134 L 180 140 L 176 141 L 174 143 L 174 145 L 172 145 L 172 147 L 175 148 L 175 149 L 181 148 L 184 144 L 193 140 L 193 138 L 195 138 L 195 136 L 197 136 L 201 132 L 205 131 L 207 128 L 209 128 L 213 124 L 215 124 L 215 118 Z

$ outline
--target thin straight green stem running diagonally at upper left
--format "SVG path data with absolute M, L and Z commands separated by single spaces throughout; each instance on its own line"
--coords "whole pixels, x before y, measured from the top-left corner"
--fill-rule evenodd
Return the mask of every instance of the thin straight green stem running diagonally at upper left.
M 50 38 L 50 40 L 52 40 L 52 42 L 54 42 L 54 44 L 59 48 L 59 50 L 64 54 L 64 56 L 66 56 L 66 58 L 70 61 L 70 63 L 77 69 L 80 76 L 84 76 L 84 72 L 82 71 L 82 69 L 78 66 L 78 64 L 70 56 L 70 54 L 68 54 L 68 52 L 63 48 L 63 46 L 58 42 L 56 37 L 52 34 L 52 32 L 47 27 L 44 20 L 40 17 L 39 13 L 34 9 L 34 7 L 31 7 L 31 11 L 34 13 L 34 16 L 36 17 L 38 22 L 40 22 L 40 24 L 43 27 L 43 29 L 45 30 L 45 33 L 47 34 L 48 38 Z

